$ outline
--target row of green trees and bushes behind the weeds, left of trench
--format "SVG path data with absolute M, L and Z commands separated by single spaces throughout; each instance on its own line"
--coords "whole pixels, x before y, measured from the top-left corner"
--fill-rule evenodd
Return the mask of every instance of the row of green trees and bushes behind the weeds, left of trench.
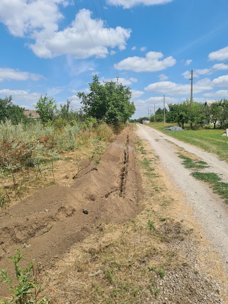
M 78 119 L 92 117 L 97 121 L 102 121 L 113 126 L 120 126 L 134 114 L 135 105 L 130 101 L 131 91 L 129 87 L 116 85 L 113 81 L 99 82 L 98 77 L 93 76 L 92 83 L 89 83 L 90 92 L 78 92 L 81 99 L 81 109 L 75 110 L 71 106 L 71 101 L 60 104 L 53 97 L 40 96 L 35 105 L 40 120 L 45 124 L 64 126 L 64 124 Z M 23 113 L 24 108 L 14 105 L 12 96 L 0 98 L 0 121 L 11 120 L 16 125 L 21 121 L 29 123 L 31 119 L 26 118 Z

